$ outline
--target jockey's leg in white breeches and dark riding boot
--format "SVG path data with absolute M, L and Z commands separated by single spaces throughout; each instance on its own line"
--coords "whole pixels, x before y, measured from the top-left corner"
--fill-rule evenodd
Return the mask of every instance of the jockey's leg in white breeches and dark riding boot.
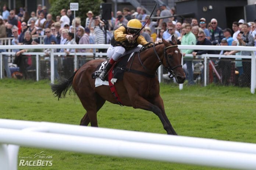
M 109 51 L 110 50 L 110 51 Z M 124 54 L 125 49 L 124 47 L 118 46 L 108 49 L 108 55 L 111 56 L 111 53 L 113 53 L 112 57 L 110 58 L 109 62 L 107 63 L 106 67 L 102 70 L 102 72 L 99 75 L 99 78 L 104 81 L 104 78 L 106 74 L 109 72 L 109 69 L 112 67 L 112 65 L 117 62 L 117 60 Z

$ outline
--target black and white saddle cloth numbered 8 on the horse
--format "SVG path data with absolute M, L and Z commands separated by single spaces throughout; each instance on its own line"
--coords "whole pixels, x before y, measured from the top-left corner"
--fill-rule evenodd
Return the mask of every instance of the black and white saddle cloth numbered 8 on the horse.
M 122 80 L 123 76 L 124 76 L 124 70 L 121 70 L 119 68 L 121 67 L 125 67 L 129 61 L 129 59 L 134 55 L 133 53 L 129 53 L 127 55 L 122 56 L 117 63 L 115 63 L 112 67 L 114 67 L 113 69 L 113 78 L 111 79 L 112 84 L 114 84 L 115 82 L 117 82 L 117 80 Z M 106 67 L 108 61 L 102 62 L 97 66 L 97 69 L 95 72 L 92 73 L 92 79 L 96 79 L 95 80 L 95 87 L 97 86 L 101 86 L 101 85 L 109 85 L 108 82 L 108 75 L 106 75 L 105 77 L 105 81 L 100 80 L 99 75 L 102 72 L 102 70 Z M 117 68 L 118 67 L 118 68 Z M 112 68 L 111 68 L 112 69 Z M 111 70 L 110 69 L 110 70 Z

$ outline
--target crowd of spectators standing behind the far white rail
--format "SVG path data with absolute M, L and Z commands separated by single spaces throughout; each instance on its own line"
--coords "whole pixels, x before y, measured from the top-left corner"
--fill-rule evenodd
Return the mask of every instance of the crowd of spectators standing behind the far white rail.
M 45 35 L 43 44 L 110 44 L 113 31 L 122 24 L 127 24 L 130 19 L 138 19 L 142 25 L 149 19 L 145 9 L 137 7 L 135 10 L 130 10 L 125 7 L 122 11 L 111 12 L 111 19 L 107 22 L 100 20 L 99 16 L 94 16 L 92 11 L 88 11 L 84 18 L 79 18 L 72 15 L 69 9 L 62 9 L 60 15 L 52 18 L 50 13 L 47 13 L 47 8 L 38 5 L 36 12 L 32 11 L 30 16 L 26 10 L 19 8 L 19 12 L 8 10 L 6 5 L 3 6 L 2 15 L 0 15 L 0 38 L 13 37 L 12 45 L 18 44 L 41 44 L 35 40 L 40 35 Z M 161 4 L 156 10 L 155 16 L 173 16 L 175 8 L 168 10 L 166 4 Z M 85 25 L 81 25 L 81 21 L 85 21 Z M 178 44 L 181 45 L 242 45 L 255 46 L 256 30 L 255 22 L 245 23 L 243 19 L 234 21 L 232 29 L 222 29 L 218 26 L 218 21 L 212 18 L 206 21 L 201 18 L 199 21 L 196 18 L 185 20 L 184 23 L 177 21 L 175 16 L 149 20 L 141 34 L 148 42 L 161 42 L 161 37 L 165 40 L 171 40 L 175 36 Z M 75 29 L 74 29 L 75 27 Z M 231 27 L 231 26 L 230 26 Z M 105 32 L 106 30 L 106 32 Z M 106 33 L 106 40 L 105 40 Z M 75 39 L 74 39 L 75 34 Z M 93 50 L 93 49 L 92 49 Z M 74 49 L 58 49 L 60 52 L 65 52 L 66 55 L 61 58 L 63 64 L 64 76 L 68 77 L 72 74 L 73 59 L 69 56 Z M 17 56 L 21 55 L 20 51 Z M 86 52 L 80 49 L 79 52 Z M 105 52 L 102 50 L 102 52 Z M 225 55 L 250 55 L 247 51 L 206 51 L 206 50 L 182 50 L 184 61 L 186 63 L 185 73 L 188 79 L 188 84 L 194 84 L 193 81 L 193 58 L 197 55 L 205 53 L 219 53 Z M 193 57 L 188 56 L 192 54 Z M 57 59 L 55 64 L 58 65 Z M 79 63 L 81 67 L 84 62 Z M 28 65 L 26 63 L 26 65 Z M 221 59 L 218 62 L 221 74 L 221 83 L 230 84 L 231 59 Z M 250 83 L 250 62 L 246 60 L 237 60 L 235 69 L 241 77 L 244 78 L 247 85 Z M 8 71 L 6 71 L 8 72 Z M 203 74 L 203 70 L 202 70 Z M 58 70 L 55 70 L 56 79 L 59 78 Z M 7 73 L 10 77 L 10 72 Z

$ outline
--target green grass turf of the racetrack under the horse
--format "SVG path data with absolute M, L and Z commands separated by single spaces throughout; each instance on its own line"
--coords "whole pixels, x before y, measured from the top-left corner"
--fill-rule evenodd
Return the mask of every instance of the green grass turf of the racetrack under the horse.
M 209 85 L 161 84 L 160 93 L 174 129 L 181 136 L 256 143 L 256 96 L 249 88 Z M 58 101 L 49 81 L 0 80 L 0 118 L 47 121 L 78 125 L 85 114 L 74 96 Z M 98 112 L 100 127 L 166 134 L 152 112 L 120 107 L 109 102 Z M 150 149 L 150 148 L 149 148 Z M 218 170 L 132 158 L 88 155 L 43 148 L 21 147 L 19 156 L 45 151 L 53 155 L 51 167 L 21 167 L 19 170 Z

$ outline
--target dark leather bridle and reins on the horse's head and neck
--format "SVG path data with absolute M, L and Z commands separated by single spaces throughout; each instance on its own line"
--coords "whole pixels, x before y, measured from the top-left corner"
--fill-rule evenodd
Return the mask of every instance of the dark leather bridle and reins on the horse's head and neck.
M 167 61 L 168 67 L 165 67 L 165 66 L 163 65 L 163 68 L 164 68 L 166 71 L 168 71 L 168 72 L 170 73 L 169 78 L 173 78 L 173 77 L 175 76 L 175 74 L 174 74 L 174 72 L 173 72 L 174 69 L 176 69 L 177 67 L 182 67 L 181 64 L 179 64 L 178 66 L 175 66 L 175 67 L 173 67 L 173 68 L 171 67 L 171 65 L 170 65 L 170 63 L 169 63 L 169 61 L 168 61 L 168 58 L 167 58 L 166 50 L 169 49 L 169 48 L 172 48 L 172 47 L 178 47 L 178 45 L 170 45 L 170 46 L 168 46 L 168 47 L 164 47 L 164 57 L 165 57 L 165 59 L 166 59 L 166 61 Z M 157 58 L 158 58 L 158 60 L 159 60 L 159 64 L 160 64 L 160 65 L 163 64 L 163 62 L 161 61 L 159 55 L 158 55 L 157 52 L 156 52 L 155 44 L 153 44 L 153 49 L 154 49 L 154 53 L 156 54 L 156 56 L 157 56 Z M 139 61 L 140 61 L 141 65 L 143 66 L 143 68 L 149 71 L 149 69 L 147 69 L 147 68 L 143 65 L 143 63 L 141 62 L 140 56 L 139 56 Z

